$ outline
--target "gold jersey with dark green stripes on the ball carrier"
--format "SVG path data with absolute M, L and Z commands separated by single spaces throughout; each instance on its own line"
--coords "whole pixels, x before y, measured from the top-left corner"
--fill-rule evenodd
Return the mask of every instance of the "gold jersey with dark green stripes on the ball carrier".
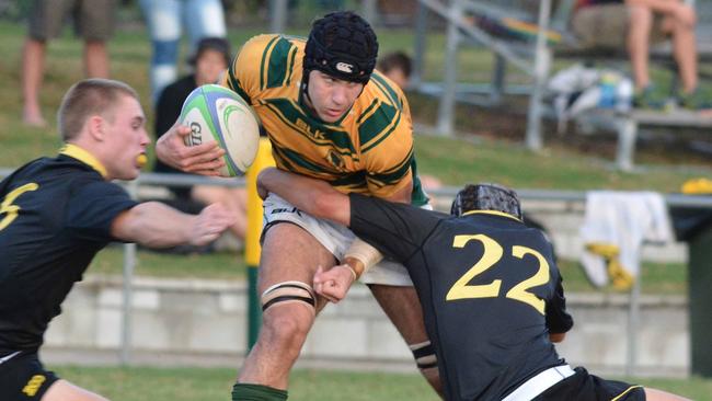
M 305 45 L 291 36 L 255 36 L 222 81 L 260 116 L 277 167 L 325 180 L 344 193 L 388 197 L 409 185 L 413 127 L 403 92 L 375 71 L 341 121 L 325 123 L 302 103 Z M 413 186 L 414 203 L 424 203 L 420 183 Z

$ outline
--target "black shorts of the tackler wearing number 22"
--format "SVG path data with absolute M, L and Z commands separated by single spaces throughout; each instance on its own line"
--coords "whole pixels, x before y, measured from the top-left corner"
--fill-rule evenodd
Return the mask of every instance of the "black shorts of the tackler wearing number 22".
M 643 386 L 606 380 L 589 375 L 583 367 L 574 369 L 575 375 L 550 387 L 535 398 L 536 401 L 644 401 Z

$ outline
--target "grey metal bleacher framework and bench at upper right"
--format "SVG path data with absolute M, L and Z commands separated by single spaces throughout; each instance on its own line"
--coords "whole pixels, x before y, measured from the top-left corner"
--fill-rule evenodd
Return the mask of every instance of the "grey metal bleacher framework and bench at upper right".
M 569 20 L 575 0 L 503 0 L 497 2 L 475 0 L 418 0 L 415 24 L 415 57 L 413 87 L 415 90 L 439 98 L 436 131 L 449 135 L 453 131 L 453 110 L 456 102 L 476 105 L 498 105 L 504 95 L 528 95 L 526 146 L 540 150 L 543 146 L 541 119 L 550 116 L 546 103 L 546 83 L 554 59 L 585 59 L 597 62 L 625 62 L 624 49 L 582 48 L 569 30 Z M 699 1 L 698 11 L 698 53 L 700 62 L 712 62 L 712 1 Z M 445 21 L 447 42 L 443 58 L 444 78 L 441 82 L 426 82 L 424 60 L 428 24 L 430 16 Z M 497 35 L 473 23 L 472 15 L 487 15 L 494 21 L 509 19 L 533 27 L 530 37 L 513 41 L 507 35 Z M 554 41 L 552 41 L 552 37 Z M 707 42 L 705 42 L 707 41 Z M 555 43 L 554 43 L 555 42 Z M 554 43 L 554 44 L 552 44 Z M 462 45 L 475 45 L 494 54 L 491 81 L 473 84 L 458 82 L 457 59 Z M 651 51 L 653 62 L 675 68 L 671 47 L 665 44 Z M 530 78 L 528 85 L 506 83 L 506 68 L 514 66 Z M 676 75 L 673 73 L 673 77 Z M 709 78 L 701 69 L 700 77 Z M 712 116 L 685 111 L 651 113 L 633 110 L 630 113 L 595 111 L 582 116 L 586 123 L 597 128 L 615 130 L 618 134 L 616 165 L 621 170 L 633 169 L 633 157 L 639 128 L 642 126 L 686 128 L 709 130 Z

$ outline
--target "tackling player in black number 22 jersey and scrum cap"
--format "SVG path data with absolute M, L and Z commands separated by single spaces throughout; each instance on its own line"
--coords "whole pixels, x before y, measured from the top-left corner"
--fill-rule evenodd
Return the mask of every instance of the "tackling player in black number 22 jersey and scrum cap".
M 436 350 L 447 400 L 684 400 L 661 390 L 589 375 L 556 354 L 573 326 L 552 247 L 521 219 L 514 191 L 467 185 L 451 214 L 361 194 L 266 169 L 260 195 L 277 194 L 356 236 L 407 267 Z M 314 290 L 337 302 L 364 274 L 346 263 L 314 276 Z

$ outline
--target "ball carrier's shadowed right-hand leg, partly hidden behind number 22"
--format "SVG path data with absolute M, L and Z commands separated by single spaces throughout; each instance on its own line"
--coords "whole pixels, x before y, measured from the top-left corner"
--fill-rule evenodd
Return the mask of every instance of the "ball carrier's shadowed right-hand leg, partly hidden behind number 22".
M 418 370 L 438 394 L 443 385 L 437 369 L 435 348 L 423 323 L 423 310 L 412 286 L 370 284 L 374 297 L 413 352 Z

